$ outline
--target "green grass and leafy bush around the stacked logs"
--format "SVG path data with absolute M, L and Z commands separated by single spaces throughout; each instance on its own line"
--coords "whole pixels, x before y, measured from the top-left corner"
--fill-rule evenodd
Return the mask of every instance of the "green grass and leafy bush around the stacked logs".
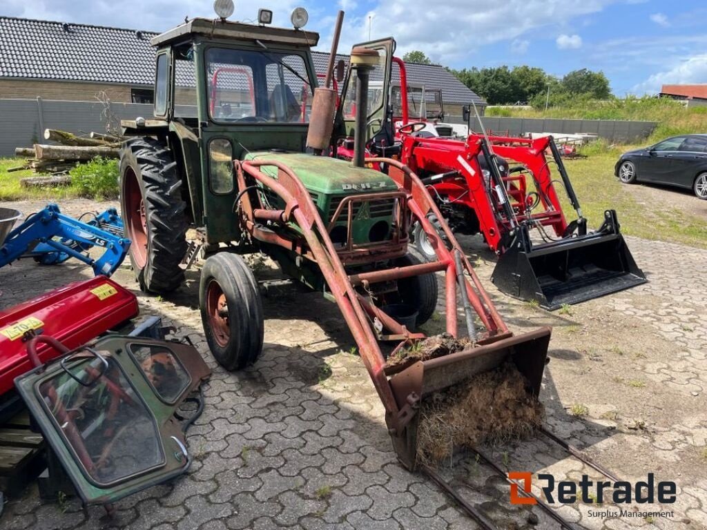
M 47 188 L 23 188 L 20 180 L 34 177 L 32 170 L 8 172 L 11 167 L 25 164 L 24 158 L 0 158 L 0 201 L 21 201 L 32 199 L 117 199 L 118 161 L 95 158 L 69 171 L 71 185 Z

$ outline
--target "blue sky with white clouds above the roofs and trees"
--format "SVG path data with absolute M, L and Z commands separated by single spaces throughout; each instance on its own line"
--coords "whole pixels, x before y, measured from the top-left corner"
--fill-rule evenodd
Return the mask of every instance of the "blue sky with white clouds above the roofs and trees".
M 185 16 L 213 16 L 211 0 L 3 0 L 0 15 L 162 31 Z M 617 95 L 657 93 L 662 83 L 707 83 L 704 0 L 235 0 L 232 20 L 274 11 L 288 26 L 307 8 L 310 30 L 328 49 L 339 8 L 346 11 L 340 52 L 394 36 L 397 54 L 420 49 L 462 69 L 529 64 L 562 76 L 602 70 Z

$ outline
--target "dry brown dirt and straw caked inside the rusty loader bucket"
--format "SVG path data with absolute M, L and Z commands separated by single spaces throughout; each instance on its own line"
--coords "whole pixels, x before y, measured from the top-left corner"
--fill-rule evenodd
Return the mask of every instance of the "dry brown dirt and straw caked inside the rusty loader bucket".
M 422 404 L 417 430 L 417 459 L 434 465 L 455 451 L 481 443 L 500 444 L 532 434 L 542 425 L 544 407 L 508 361 Z

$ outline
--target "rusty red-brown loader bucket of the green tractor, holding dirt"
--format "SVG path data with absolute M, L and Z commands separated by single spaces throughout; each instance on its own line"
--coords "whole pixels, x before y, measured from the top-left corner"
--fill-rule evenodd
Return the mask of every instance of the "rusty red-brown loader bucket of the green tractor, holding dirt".
M 551 329 L 544 327 L 491 343 L 481 341 L 477 343 L 481 346 L 469 346 L 444 357 L 417 361 L 390 378 L 397 405 L 399 408 L 413 405 L 418 409 L 432 394 L 493 370 L 509 359 L 527 379 L 527 391 L 537 397 L 547 364 L 550 333 Z M 391 434 L 398 459 L 411 471 L 416 465 L 419 420 L 419 414 L 414 414 L 404 430 Z

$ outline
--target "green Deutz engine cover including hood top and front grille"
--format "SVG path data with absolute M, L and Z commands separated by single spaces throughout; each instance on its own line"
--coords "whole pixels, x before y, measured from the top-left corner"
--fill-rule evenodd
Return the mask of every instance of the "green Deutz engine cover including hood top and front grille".
M 310 192 L 322 220 L 327 225 L 344 197 L 397 190 L 397 185 L 387 175 L 364 167 L 354 167 L 350 162 L 336 158 L 303 153 L 264 151 L 249 153 L 245 159 L 273 160 L 290 167 Z M 261 169 L 266 175 L 277 177 L 276 167 L 264 166 Z M 282 206 L 279 197 L 276 197 L 272 192 L 266 192 L 266 196 L 271 200 L 271 206 Z M 354 243 L 360 245 L 390 239 L 395 214 L 395 199 L 356 202 L 353 207 L 352 237 Z M 347 212 L 344 208 L 337 218 L 336 227 L 331 232 L 332 240 L 335 243 L 346 242 L 346 216 Z

